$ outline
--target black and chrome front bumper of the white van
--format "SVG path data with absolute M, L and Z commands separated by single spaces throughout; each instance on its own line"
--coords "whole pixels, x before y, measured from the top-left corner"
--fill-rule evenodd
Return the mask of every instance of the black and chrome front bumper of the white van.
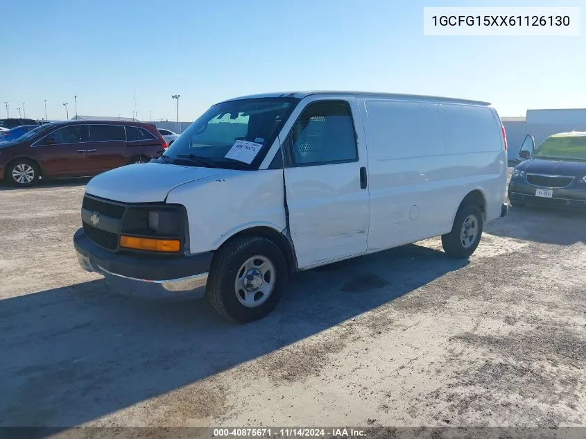
M 189 300 L 205 294 L 212 252 L 184 257 L 112 253 L 90 241 L 83 228 L 74 234 L 74 247 L 84 270 L 100 273 L 123 295 L 144 300 Z

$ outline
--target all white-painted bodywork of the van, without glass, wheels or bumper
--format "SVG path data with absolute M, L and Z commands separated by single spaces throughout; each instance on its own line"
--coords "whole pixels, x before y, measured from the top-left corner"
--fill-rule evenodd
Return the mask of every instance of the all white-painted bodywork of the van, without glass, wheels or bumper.
M 506 151 L 500 119 L 489 104 L 359 93 L 300 97 L 259 171 L 132 165 L 98 175 L 87 192 L 184 205 L 190 251 L 198 253 L 216 250 L 250 227 L 284 231 L 284 177 L 300 269 L 449 232 L 461 201 L 475 189 L 485 198 L 486 221 L 499 217 Z M 267 169 L 307 105 L 322 100 L 349 103 L 359 159 Z M 366 189 L 361 167 L 367 169 Z

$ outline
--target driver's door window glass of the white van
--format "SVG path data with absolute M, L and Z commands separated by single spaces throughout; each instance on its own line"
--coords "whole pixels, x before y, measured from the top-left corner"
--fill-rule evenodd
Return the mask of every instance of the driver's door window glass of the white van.
M 291 129 L 293 166 L 355 162 L 356 135 L 345 101 L 311 103 Z

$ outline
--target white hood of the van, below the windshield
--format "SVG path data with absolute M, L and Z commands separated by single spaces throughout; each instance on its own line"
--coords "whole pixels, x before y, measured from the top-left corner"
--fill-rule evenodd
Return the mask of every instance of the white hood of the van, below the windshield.
M 129 164 L 96 175 L 87 183 L 85 192 L 123 203 L 159 202 L 181 184 L 223 172 L 225 169 L 175 164 Z

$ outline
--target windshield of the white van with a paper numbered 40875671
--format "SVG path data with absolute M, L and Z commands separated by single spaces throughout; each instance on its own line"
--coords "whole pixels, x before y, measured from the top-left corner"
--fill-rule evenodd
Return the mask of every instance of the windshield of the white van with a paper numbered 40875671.
M 173 141 L 162 162 L 258 169 L 297 98 L 251 98 L 212 106 Z

